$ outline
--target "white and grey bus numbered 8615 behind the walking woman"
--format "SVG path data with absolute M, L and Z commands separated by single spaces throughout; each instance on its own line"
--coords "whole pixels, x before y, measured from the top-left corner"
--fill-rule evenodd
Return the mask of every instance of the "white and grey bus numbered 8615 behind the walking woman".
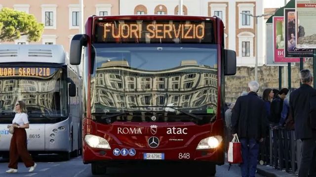
M 14 104 L 26 103 L 26 129 L 32 154 L 61 154 L 81 149 L 81 77 L 61 45 L 0 45 L 0 155 L 8 156 Z

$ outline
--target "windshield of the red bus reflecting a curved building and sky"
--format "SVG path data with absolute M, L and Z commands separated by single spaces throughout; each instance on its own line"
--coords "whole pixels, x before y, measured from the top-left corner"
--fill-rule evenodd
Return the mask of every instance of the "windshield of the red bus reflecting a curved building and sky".
M 92 114 L 216 115 L 216 45 L 93 44 L 92 51 Z

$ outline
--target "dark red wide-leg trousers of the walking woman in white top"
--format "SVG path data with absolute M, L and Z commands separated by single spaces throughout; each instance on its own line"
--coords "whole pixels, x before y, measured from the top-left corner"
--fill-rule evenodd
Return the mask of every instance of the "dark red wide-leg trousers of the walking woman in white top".
M 34 161 L 26 144 L 26 131 L 24 128 L 14 128 L 10 143 L 10 162 L 8 167 L 18 169 L 18 161 L 21 157 L 26 167 L 34 166 Z

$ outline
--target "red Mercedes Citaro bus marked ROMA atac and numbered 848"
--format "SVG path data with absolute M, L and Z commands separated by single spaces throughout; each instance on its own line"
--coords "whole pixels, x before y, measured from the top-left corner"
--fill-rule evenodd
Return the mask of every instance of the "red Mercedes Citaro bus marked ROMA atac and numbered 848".
M 224 164 L 224 49 L 217 17 L 91 16 L 73 37 L 83 65 L 82 159 L 92 174 L 130 162 Z M 83 49 L 83 50 L 82 50 Z

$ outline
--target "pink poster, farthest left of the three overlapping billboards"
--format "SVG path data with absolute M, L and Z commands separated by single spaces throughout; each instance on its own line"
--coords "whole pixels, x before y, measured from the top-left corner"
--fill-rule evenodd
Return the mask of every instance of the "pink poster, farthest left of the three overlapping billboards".
M 284 58 L 285 35 L 284 17 L 273 17 L 274 62 L 300 62 L 299 58 Z

